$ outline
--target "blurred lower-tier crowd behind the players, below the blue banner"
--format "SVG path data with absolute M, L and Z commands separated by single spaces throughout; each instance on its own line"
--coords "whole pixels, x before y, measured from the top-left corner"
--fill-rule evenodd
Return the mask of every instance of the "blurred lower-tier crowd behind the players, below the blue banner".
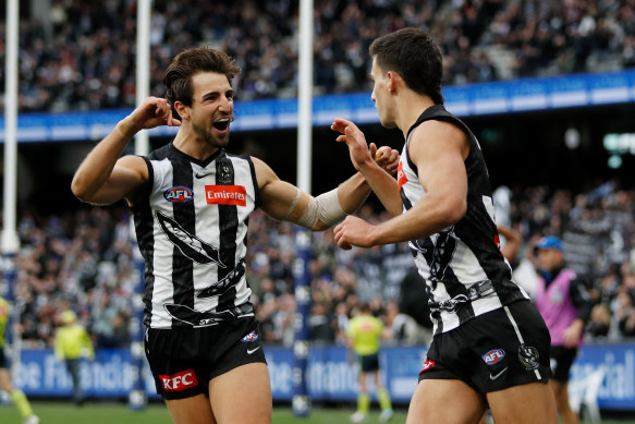
M 582 194 L 546 186 L 509 192 L 510 225 L 523 234 L 521 252 L 511 262 L 516 280 L 532 293 L 530 275 L 536 272 L 532 246 L 544 234 L 559 235 L 565 259 L 587 279 L 595 304 L 587 339 L 635 336 L 635 191 L 607 182 Z M 370 206 L 357 214 L 371 221 L 386 219 Z M 129 344 L 138 278 L 129 220 L 123 206 L 48 217 L 21 214 L 15 294 L 25 347 L 50 348 L 60 314 L 68 308 L 77 313 L 98 348 Z M 296 228 L 256 211 L 249 231 L 247 278 L 262 337 L 268 343 L 290 347 Z M 344 251 L 337 247 L 329 230 L 312 233 L 310 245 L 314 342 L 344 343 L 346 324 L 362 303 L 384 322 L 389 342 L 429 341 L 424 286 L 405 243 Z M 582 249 L 591 245 L 597 249 Z

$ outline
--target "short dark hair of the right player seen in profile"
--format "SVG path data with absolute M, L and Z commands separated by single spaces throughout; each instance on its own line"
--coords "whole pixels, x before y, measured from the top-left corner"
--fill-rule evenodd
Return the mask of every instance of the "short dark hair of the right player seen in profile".
M 402 28 L 373 41 L 370 56 L 383 72 L 394 71 L 414 92 L 443 104 L 443 58 L 435 40 L 418 28 Z

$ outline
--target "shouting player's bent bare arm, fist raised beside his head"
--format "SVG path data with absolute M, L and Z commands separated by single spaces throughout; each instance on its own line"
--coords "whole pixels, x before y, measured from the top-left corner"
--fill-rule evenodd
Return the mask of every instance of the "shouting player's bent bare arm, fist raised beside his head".
M 141 157 L 121 157 L 123 149 L 143 129 L 180 124 L 166 99 L 147 98 L 88 154 L 73 177 L 71 190 L 81 201 L 96 205 L 123 197 L 134 203 L 134 191 L 147 181 L 148 169 Z

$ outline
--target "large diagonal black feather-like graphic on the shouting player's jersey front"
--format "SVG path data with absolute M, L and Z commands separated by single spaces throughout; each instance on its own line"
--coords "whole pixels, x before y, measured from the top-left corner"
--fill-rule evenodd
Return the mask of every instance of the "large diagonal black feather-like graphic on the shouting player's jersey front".
M 160 211 L 157 211 L 157 221 L 161 226 L 163 233 L 183 255 L 198 264 L 215 263 L 221 268 L 225 268 L 217 247 L 185 231 L 179 222 Z

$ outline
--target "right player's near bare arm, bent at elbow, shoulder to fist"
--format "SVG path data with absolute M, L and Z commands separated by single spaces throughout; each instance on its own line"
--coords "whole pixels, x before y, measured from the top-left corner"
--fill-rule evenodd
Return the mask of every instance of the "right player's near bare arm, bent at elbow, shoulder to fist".
M 408 211 L 378 226 L 346 217 L 333 231 L 338 245 L 369 247 L 415 240 L 457 222 L 467 208 L 468 153 L 461 130 L 441 121 L 424 122 L 411 136 L 408 154 L 427 194 Z

